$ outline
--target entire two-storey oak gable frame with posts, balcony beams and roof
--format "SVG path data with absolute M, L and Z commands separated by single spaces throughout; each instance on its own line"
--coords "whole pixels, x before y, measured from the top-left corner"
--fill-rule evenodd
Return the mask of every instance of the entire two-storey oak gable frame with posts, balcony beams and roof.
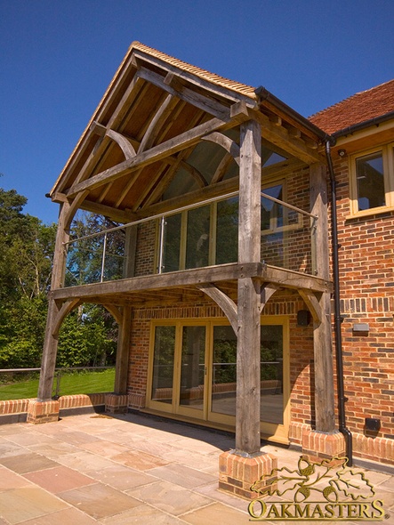
M 238 126 L 239 144 L 225 134 Z M 261 310 L 269 297 L 279 288 L 291 288 L 303 293 L 313 312 L 317 427 L 321 432 L 333 432 L 324 136 L 293 110 L 261 100 L 250 86 L 134 43 L 50 194 L 60 203 L 60 224 L 38 399 L 51 398 L 57 331 L 65 312 L 76 304 L 92 302 L 117 308 L 120 335 L 115 393 L 125 394 L 133 306 L 152 300 L 180 302 L 185 297 L 211 300 L 221 307 L 237 333 L 237 449 L 254 454 L 260 448 L 260 331 L 256 330 L 260 330 Z M 215 143 L 223 156 L 211 184 L 205 184 L 204 177 L 188 167 L 189 151 L 205 141 Z M 261 141 L 284 152 L 287 159 L 262 168 Z M 232 159 L 239 164 L 239 176 L 224 180 Z M 198 190 L 162 201 L 166 185 L 180 166 L 196 177 Z M 275 177 L 293 166 L 310 166 L 310 208 L 319 216 L 316 276 L 261 263 L 261 178 Z M 126 223 L 234 190 L 239 190 L 242 210 L 237 263 L 63 287 L 64 246 L 78 208 Z

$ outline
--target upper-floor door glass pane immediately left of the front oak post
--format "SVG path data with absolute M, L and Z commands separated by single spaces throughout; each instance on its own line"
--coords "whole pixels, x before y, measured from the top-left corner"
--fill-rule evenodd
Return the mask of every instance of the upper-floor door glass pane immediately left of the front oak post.
M 238 199 L 218 202 L 216 220 L 216 264 L 237 263 Z

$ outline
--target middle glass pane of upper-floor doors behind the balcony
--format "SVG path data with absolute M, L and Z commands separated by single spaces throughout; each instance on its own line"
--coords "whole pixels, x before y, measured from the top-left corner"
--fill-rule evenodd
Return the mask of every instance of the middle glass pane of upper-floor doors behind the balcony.
M 188 213 L 186 268 L 208 265 L 210 210 L 210 206 L 202 206 Z

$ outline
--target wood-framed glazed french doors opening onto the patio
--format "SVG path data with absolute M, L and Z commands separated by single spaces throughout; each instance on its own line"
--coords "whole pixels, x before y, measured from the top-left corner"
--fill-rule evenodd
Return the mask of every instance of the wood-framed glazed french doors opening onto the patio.
M 151 327 L 147 408 L 234 427 L 237 337 L 227 322 L 154 322 Z M 261 318 L 261 433 L 288 437 L 288 319 Z

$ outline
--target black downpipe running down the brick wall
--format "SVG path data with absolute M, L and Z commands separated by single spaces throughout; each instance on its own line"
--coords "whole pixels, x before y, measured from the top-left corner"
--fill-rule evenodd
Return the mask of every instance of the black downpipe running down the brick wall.
M 341 334 L 341 302 L 339 285 L 339 264 L 338 264 L 338 223 L 336 216 L 336 181 L 334 175 L 333 159 L 331 158 L 330 141 L 326 141 L 326 158 L 328 172 L 331 181 L 331 236 L 333 243 L 333 274 L 334 274 L 334 334 L 335 334 L 335 358 L 336 358 L 336 378 L 338 389 L 338 419 L 339 432 L 341 432 L 346 442 L 346 456 L 349 459 L 348 465 L 353 464 L 353 446 L 351 442 L 351 432 L 346 427 L 345 416 L 345 395 L 343 384 L 343 354 L 342 354 L 342 334 Z

